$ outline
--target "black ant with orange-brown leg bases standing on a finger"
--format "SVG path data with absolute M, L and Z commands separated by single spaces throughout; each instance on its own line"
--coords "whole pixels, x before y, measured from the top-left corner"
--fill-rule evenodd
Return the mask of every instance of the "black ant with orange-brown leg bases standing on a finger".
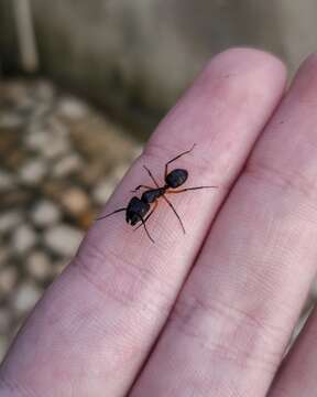
M 186 182 L 186 180 L 188 178 L 188 171 L 184 170 L 184 169 L 175 169 L 175 170 L 168 172 L 168 165 L 172 162 L 174 162 L 175 160 L 178 160 L 181 157 L 190 153 L 192 150 L 195 148 L 195 146 L 196 146 L 196 143 L 194 143 L 193 147 L 189 150 L 186 150 L 186 151 L 182 152 L 181 154 L 177 154 L 172 160 L 167 161 L 167 163 L 165 164 L 165 173 L 164 173 L 165 184 L 163 186 L 158 185 L 158 183 L 156 182 L 156 180 L 153 176 L 152 172 L 145 165 L 143 165 L 144 170 L 147 172 L 147 174 L 152 179 L 153 183 L 155 184 L 155 187 L 146 186 L 146 185 L 142 185 L 142 184 L 136 186 L 131 192 L 135 193 L 140 189 L 145 189 L 145 191 L 142 193 L 141 198 L 139 198 L 136 196 L 133 196 L 130 200 L 127 207 L 119 208 L 119 210 L 113 211 L 110 214 L 100 216 L 99 218 L 97 218 L 97 221 L 103 219 L 103 218 L 106 218 L 106 217 L 108 217 L 110 215 L 113 215 L 113 214 L 117 214 L 119 212 L 125 211 L 125 221 L 127 221 L 127 223 L 130 224 L 131 226 L 135 226 L 139 222 L 141 222 L 141 224 L 134 230 L 136 230 L 140 226 L 143 225 L 143 227 L 144 227 L 144 229 L 145 229 L 145 232 L 147 234 L 147 237 L 150 238 L 150 240 L 152 243 L 154 243 L 153 238 L 151 237 L 151 235 L 150 235 L 150 233 L 147 230 L 147 227 L 146 227 L 145 223 L 147 222 L 150 216 L 156 210 L 157 204 L 158 204 L 158 198 L 163 197 L 163 200 L 165 200 L 165 202 L 170 205 L 170 207 L 172 208 L 172 211 L 176 215 L 176 217 L 177 217 L 177 219 L 178 219 L 178 222 L 181 224 L 181 227 L 182 227 L 182 229 L 183 229 L 183 232 L 185 234 L 186 232 L 185 232 L 185 227 L 183 225 L 183 222 L 182 222 L 179 215 L 177 214 L 175 207 L 173 206 L 173 204 L 166 197 L 166 194 L 178 194 L 178 193 L 184 193 L 184 192 L 194 191 L 194 190 L 218 187 L 218 186 L 196 186 L 196 187 L 186 187 L 186 189 L 181 189 L 181 190 L 174 190 L 176 187 L 182 186 Z M 151 210 L 151 204 L 153 204 L 152 210 Z M 150 211 L 150 213 L 149 213 L 149 211 Z

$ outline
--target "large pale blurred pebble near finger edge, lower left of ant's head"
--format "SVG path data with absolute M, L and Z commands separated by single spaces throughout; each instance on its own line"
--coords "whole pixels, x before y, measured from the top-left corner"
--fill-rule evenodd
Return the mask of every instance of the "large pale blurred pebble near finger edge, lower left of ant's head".
M 52 226 L 44 233 L 44 242 L 54 253 L 70 257 L 75 255 L 83 235 L 80 229 L 61 224 Z

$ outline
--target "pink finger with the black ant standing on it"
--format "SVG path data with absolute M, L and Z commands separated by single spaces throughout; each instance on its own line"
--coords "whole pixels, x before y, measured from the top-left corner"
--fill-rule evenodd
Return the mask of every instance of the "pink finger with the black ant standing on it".
M 218 192 L 174 200 L 187 227 L 185 236 L 170 207 L 160 203 L 149 221 L 155 244 L 142 228 L 133 233 L 122 213 L 97 222 L 11 348 L 2 365 L 7 384 L 45 396 L 124 394 L 278 101 L 284 78 L 281 63 L 259 51 L 232 50 L 214 58 L 158 126 L 103 214 L 125 205 L 135 185 L 151 183 L 142 165 L 162 182 L 164 164 L 193 143 L 197 147 L 178 167 L 189 171 L 190 182 L 217 184 Z

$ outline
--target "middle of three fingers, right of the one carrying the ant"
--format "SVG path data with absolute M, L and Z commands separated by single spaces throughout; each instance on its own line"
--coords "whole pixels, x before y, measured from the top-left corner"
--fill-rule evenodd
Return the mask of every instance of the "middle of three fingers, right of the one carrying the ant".
M 133 397 L 266 394 L 316 272 L 316 72 L 256 143 Z

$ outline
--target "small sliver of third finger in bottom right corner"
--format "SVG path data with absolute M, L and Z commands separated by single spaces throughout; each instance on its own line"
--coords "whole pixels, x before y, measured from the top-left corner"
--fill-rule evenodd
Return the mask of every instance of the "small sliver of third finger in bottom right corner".
M 269 397 L 315 397 L 317 389 L 317 311 L 283 362 Z

